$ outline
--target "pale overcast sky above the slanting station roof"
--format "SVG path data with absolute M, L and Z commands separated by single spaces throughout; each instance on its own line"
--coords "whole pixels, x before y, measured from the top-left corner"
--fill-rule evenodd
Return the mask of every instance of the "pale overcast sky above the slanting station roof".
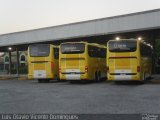
M 160 8 L 160 0 L 0 0 L 0 34 Z

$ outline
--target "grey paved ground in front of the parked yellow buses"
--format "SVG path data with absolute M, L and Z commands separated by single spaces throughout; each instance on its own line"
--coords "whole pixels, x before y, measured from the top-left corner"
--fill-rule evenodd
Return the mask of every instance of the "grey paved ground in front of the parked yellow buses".
M 160 113 L 160 76 L 146 84 L 0 81 L 0 113 Z

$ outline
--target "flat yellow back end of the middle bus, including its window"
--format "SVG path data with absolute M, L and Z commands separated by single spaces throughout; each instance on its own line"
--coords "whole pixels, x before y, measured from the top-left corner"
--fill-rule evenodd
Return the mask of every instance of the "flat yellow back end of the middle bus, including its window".
M 84 43 L 65 43 L 61 45 L 60 79 L 86 79 L 86 54 Z

